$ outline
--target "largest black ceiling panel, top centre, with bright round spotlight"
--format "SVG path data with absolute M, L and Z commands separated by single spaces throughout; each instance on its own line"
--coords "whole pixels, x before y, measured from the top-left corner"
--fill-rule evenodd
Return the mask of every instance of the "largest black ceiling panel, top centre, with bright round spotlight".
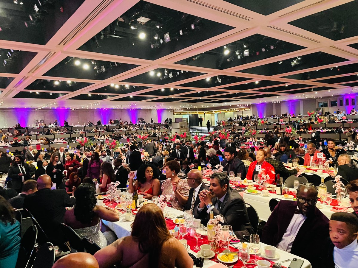
M 138 24 L 140 18 L 150 20 Z M 121 20 L 113 21 L 79 49 L 155 60 L 231 29 L 215 21 L 139 1 L 121 15 Z M 141 33 L 145 33 L 143 39 L 139 37 Z M 169 39 L 165 34 L 169 34 Z

